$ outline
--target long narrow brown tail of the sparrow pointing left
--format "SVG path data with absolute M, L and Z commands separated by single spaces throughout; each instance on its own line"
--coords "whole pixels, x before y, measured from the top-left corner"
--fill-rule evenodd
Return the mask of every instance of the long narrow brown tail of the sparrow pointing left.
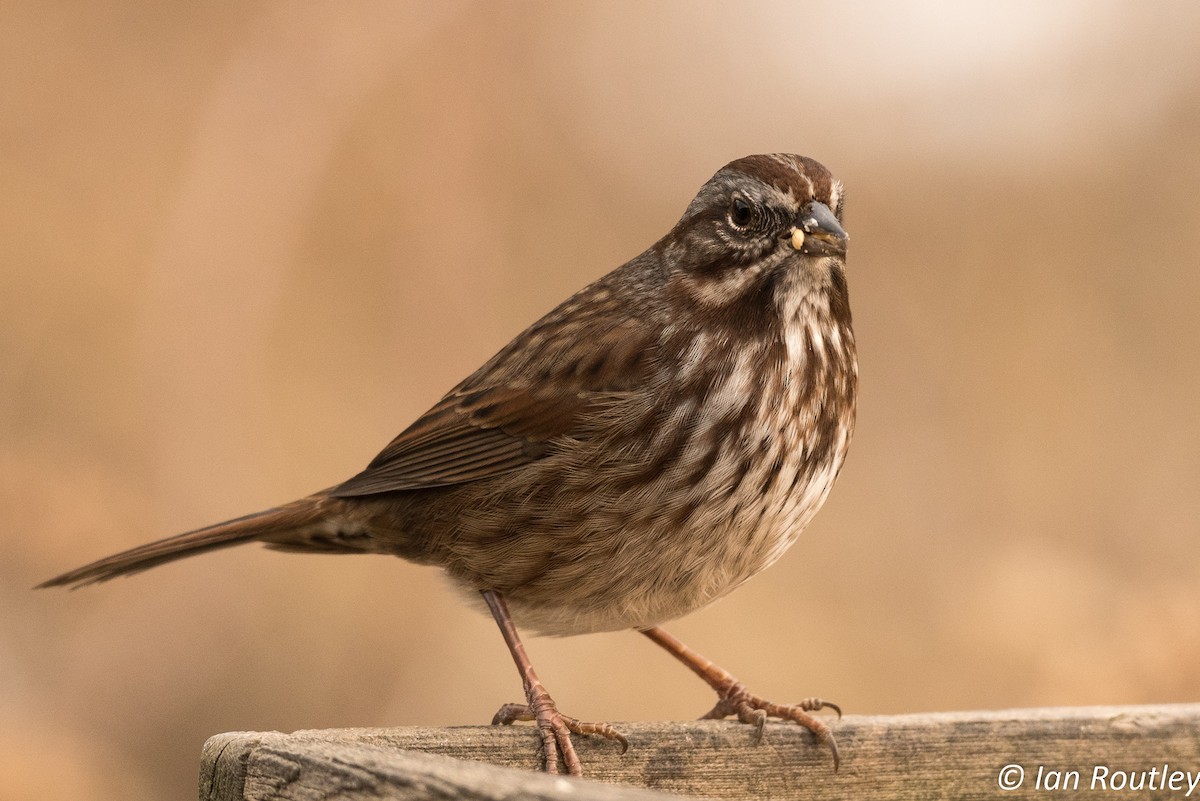
M 148 542 L 144 546 L 104 556 L 90 565 L 56 576 L 48 582 L 42 582 L 35 589 L 88 586 L 218 548 L 228 548 L 256 540 L 286 538 L 288 532 L 305 529 L 323 519 L 325 514 L 323 500 L 326 499 L 322 495 L 313 495 L 264 512 L 254 512 L 224 523 L 178 534 L 166 540 Z

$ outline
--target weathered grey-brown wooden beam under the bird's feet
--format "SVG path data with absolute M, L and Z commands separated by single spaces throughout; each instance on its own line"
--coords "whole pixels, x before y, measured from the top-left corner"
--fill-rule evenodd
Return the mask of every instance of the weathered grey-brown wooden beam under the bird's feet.
M 630 742 L 624 755 L 610 741 L 576 737 L 584 773 L 608 785 L 534 772 L 538 740 L 527 725 L 222 734 L 205 743 L 200 799 L 658 797 L 619 784 L 712 799 L 1024 799 L 1056 790 L 1200 799 L 1200 704 L 847 716 L 833 722 L 836 773 L 829 753 L 796 725 L 769 723 L 761 742 L 751 727 L 727 721 L 618 728 Z M 1001 793 L 1018 773 L 1020 787 Z M 1116 787 L 1139 782 L 1134 793 Z M 1190 796 L 1189 782 L 1198 782 Z

